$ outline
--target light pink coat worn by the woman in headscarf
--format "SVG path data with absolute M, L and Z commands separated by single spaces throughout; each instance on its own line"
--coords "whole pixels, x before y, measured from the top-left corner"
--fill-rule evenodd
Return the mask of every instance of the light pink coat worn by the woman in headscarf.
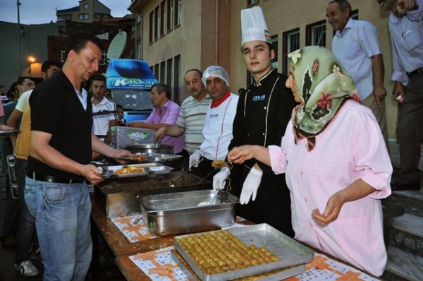
M 372 112 L 357 102 L 346 102 L 317 136 L 311 152 L 304 138 L 295 145 L 290 121 L 281 147 L 269 146 L 269 152 L 274 172 L 286 173 L 295 239 L 382 275 L 386 249 L 379 199 L 391 194 L 392 166 Z M 323 213 L 329 197 L 356 179 L 377 191 L 345 203 L 337 220 L 326 227 L 317 225 L 312 210 Z

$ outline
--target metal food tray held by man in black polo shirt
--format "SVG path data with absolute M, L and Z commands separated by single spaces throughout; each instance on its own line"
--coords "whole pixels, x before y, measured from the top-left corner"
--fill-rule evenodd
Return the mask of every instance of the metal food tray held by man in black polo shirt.
M 100 167 L 107 178 L 140 177 L 147 174 L 168 174 L 173 168 L 159 163 L 142 163 L 134 165 L 115 165 Z

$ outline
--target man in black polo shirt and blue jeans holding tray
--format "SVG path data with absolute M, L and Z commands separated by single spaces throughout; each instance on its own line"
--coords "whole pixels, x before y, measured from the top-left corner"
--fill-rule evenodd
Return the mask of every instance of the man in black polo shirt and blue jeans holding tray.
M 85 280 L 92 256 L 87 181 L 102 181 L 90 164 L 92 151 L 130 156 L 91 133 L 92 105 L 82 83 L 98 70 L 102 42 L 75 36 L 62 71 L 30 96 L 31 148 L 25 201 L 35 216 L 44 280 Z

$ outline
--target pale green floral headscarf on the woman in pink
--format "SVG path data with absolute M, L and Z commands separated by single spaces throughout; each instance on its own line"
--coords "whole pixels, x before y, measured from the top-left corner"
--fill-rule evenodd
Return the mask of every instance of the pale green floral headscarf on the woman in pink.
M 293 111 L 295 143 L 306 138 L 308 150 L 347 100 L 360 102 L 353 78 L 326 48 L 309 46 L 288 54 L 302 103 Z

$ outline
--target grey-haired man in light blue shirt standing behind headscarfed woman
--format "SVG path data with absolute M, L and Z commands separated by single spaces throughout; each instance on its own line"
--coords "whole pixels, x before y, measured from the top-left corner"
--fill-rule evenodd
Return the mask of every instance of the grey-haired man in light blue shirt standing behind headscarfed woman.
M 351 6 L 346 0 L 329 2 L 326 17 L 336 30 L 332 52 L 353 77 L 362 104 L 372 109 L 389 151 L 384 58 L 376 28 L 372 23 L 351 18 Z

